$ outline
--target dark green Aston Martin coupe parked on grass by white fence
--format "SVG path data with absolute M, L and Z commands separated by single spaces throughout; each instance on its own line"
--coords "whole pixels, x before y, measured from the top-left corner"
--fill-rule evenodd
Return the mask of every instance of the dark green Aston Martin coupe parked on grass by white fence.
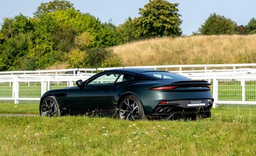
M 211 117 L 211 84 L 161 70 L 124 68 L 95 74 L 77 86 L 49 90 L 42 116 L 86 114 L 122 120 Z

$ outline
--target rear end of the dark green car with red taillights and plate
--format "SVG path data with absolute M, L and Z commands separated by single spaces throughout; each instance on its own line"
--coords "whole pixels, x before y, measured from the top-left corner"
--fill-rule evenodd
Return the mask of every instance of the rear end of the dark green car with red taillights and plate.
M 195 120 L 211 117 L 211 84 L 204 80 L 177 81 L 149 90 L 159 97 L 150 118 Z

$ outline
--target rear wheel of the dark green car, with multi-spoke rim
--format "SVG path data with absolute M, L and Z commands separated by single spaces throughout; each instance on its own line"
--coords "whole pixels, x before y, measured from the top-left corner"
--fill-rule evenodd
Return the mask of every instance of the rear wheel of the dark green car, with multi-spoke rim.
M 134 95 L 128 95 L 122 99 L 118 108 L 121 120 L 145 120 L 145 113 L 141 101 Z

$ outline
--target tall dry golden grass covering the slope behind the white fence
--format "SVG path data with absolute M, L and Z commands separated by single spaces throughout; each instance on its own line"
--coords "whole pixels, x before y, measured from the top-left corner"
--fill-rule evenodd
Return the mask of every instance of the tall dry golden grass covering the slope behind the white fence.
M 113 47 L 124 66 L 255 63 L 256 35 L 153 38 Z

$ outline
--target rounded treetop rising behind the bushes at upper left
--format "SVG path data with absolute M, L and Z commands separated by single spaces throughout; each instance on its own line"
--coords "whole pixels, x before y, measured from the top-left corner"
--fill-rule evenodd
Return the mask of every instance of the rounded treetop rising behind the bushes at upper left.
M 37 11 L 35 11 L 34 15 L 36 18 L 39 18 L 39 16 L 42 16 L 43 14 L 48 14 L 50 12 L 67 9 L 75 9 L 73 7 L 73 3 L 70 3 L 69 1 L 65 0 L 54 0 L 48 3 L 41 3 L 41 5 L 37 7 Z

